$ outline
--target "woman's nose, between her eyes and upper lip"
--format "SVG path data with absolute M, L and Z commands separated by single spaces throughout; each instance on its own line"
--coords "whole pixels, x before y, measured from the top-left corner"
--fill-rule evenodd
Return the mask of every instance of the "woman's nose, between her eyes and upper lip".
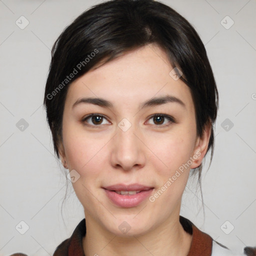
M 143 136 L 131 125 L 127 130 L 117 127 L 111 141 L 111 165 L 125 171 L 139 169 L 145 164 L 146 146 Z

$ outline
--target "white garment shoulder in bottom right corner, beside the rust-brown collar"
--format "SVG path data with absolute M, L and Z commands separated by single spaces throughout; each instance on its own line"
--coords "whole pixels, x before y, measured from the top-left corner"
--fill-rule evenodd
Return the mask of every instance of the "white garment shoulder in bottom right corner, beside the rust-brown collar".
M 256 256 L 256 247 L 246 246 L 243 248 L 243 253 L 231 251 L 226 246 L 212 240 L 211 256 Z

